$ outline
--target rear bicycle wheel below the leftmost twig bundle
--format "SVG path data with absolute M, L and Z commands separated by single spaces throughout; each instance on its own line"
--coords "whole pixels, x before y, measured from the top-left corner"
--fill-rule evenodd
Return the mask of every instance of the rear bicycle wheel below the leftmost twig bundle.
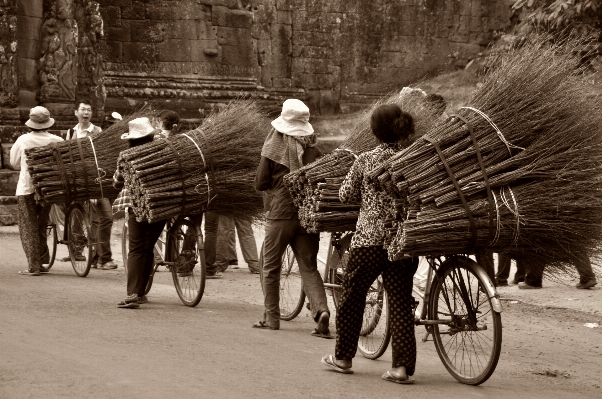
M 67 211 L 67 240 L 69 257 L 75 274 L 86 277 L 90 272 L 92 253 L 92 232 L 88 217 L 80 204 L 73 204 Z

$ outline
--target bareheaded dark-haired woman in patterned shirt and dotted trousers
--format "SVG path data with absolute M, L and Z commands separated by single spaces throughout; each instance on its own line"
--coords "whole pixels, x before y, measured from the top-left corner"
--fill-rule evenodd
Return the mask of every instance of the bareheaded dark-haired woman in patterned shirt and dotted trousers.
M 391 262 L 383 248 L 384 222 L 393 218 L 393 199 L 379 190 L 366 174 L 401 149 L 398 144 L 414 134 L 412 116 L 395 104 L 378 107 L 371 116 L 372 133 L 380 145 L 365 152 L 355 161 L 339 191 L 341 202 L 360 204 L 356 232 L 351 240 L 347 272 L 343 281 L 341 306 L 337 312 L 337 343 L 334 355 L 322 363 L 341 373 L 352 373 L 352 359 L 366 306 L 366 294 L 374 280 L 382 274 L 391 312 L 393 367 L 382 378 L 400 384 L 411 384 L 416 364 L 416 339 L 412 312 L 412 277 L 418 258 Z

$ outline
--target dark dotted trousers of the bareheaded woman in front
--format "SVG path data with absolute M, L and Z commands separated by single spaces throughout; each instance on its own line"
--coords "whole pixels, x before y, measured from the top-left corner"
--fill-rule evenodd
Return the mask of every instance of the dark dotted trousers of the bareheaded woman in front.
M 387 250 L 381 246 L 351 249 L 343 279 L 341 305 L 337 312 L 337 359 L 350 360 L 355 357 L 366 295 L 374 280 L 382 274 L 390 312 L 393 367 L 404 366 L 408 375 L 414 374 L 416 337 L 412 278 L 416 269 L 418 258 L 391 262 Z

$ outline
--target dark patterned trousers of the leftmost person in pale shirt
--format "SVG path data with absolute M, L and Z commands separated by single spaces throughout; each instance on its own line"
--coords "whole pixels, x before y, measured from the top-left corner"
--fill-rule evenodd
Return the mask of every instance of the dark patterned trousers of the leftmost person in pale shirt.
M 17 196 L 19 235 L 30 271 L 39 271 L 50 261 L 46 228 L 50 219 L 50 206 L 36 204 L 34 194 Z

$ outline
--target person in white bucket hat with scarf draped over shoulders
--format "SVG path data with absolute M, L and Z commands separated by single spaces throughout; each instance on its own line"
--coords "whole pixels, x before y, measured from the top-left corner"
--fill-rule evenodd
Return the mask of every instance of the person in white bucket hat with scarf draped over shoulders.
M 300 100 L 289 99 L 282 113 L 272 121 L 255 178 L 255 188 L 264 192 L 266 209 L 263 243 L 262 284 L 264 317 L 254 328 L 280 328 L 280 270 L 282 255 L 290 244 L 299 264 L 303 290 L 309 298 L 311 314 L 317 323 L 312 335 L 332 338 L 329 330 L 330 310 L 324 282 L 318 272 L 320 235 L 310 234 L 299 223 L 297 209 L 282 178 L 289 172 L 313 162 L 320 151 L 314 146 L 316 136 L 309 123 L 309 108 Z

